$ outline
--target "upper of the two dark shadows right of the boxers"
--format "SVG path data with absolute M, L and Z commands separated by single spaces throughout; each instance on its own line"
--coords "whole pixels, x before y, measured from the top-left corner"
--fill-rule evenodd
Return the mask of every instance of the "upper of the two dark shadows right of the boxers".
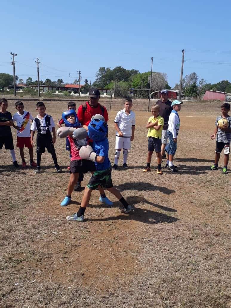
M 174 193 L 175 190 L 174 189 L 169 189 L 167 187 L 164 186 L 155 186 L 152 185 L 150 183 L 146 183 L 146 182 L 128 182 L 128 183 L 124 183 L 121 185 L 116 185 L 116 188 L 122 192 L 124 190 L 139 190 L 139 191 L 153 191 L 153 190 L 158 190 L 161 193 L 164 193 L 166 195 L 170 195 L 171 193 Z

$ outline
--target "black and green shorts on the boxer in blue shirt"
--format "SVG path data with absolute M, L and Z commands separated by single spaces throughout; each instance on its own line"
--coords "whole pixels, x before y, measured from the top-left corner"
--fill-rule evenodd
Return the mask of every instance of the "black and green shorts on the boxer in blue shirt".
M 112 180 L 111 180 L 111 168 L 106 170 L 96 170 L 94 174 L 91 176 L 87 187 L 94 190 L 99 185 L 106 188 L 113 187 Z

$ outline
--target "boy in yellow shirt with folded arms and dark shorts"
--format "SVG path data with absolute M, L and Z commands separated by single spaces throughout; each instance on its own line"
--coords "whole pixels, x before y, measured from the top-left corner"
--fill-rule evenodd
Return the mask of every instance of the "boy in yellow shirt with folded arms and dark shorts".
M 148 128 L 148 157 L 147 157 L 147 167 L 143 170 L 144 172 L 151 171 L 150 163 L 152 160 L 152 153 L 155 150 L 157 156 L 157 174 L 162 174 L 161 171 L 161 134 L 164 125 L 164 118 L 159 115 L 160 106 L 152 106 L 152 115 L 148 119 L 146 128 Z

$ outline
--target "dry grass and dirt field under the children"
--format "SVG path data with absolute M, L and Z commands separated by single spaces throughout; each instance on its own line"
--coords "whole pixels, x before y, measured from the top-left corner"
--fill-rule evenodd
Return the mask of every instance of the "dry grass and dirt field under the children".
M 8 103 L 13 113 L 14 103 Z M 35 103 L 25 102 L 34 116 Z M 45 104 L 56 123 L 67 103 Z M 114 185 L 134 207 L 130 215 L 120 213 L 119 202 L 107 191 L 114 206 L 102 206 L 94 191 L 86 220 L 66 221 L 83 191 L 73 192 L 67 207 L 60 206 L 69 180 L 65 140 L 57 137 L 55 144 L 61 174 L 48 153 L 42 156 L 43 172 L 36 175 L 32 168 L 14 169 L 9 151 L 1 150 L 0 307 L 230 307 L 231 173 L 209 170 L 215 154 L 210 135 L 220 105 L 182 105 L 175 160 L 179 172 L 163 168 L 157 176 L 155 157 L 152 172 L 142 172 L 151 113 L 136 111 L 142 106 L 134 103 L 130 168 L 112 172 Z M 113 120 L 122 108 L 120 103 L 109 112 L 111 162 Z M 21 164 L 18 149 L 16 157 Z M 222 154 L 219 166 L 223 163 Z

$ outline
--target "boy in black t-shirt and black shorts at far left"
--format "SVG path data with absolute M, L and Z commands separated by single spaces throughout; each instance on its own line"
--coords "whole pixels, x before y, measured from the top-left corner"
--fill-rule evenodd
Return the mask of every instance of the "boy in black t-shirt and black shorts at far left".
M 12 115 L 9 111 L 6 111 L 8 102 L 5 98 L 0 99 L 0 150 L 2 150 L 3 144 L 6 150 L 10 150 L 10 154 L 13 160 L 14 167 L 18 168 L 18 162 L 15 159 L 13 136 L 10 126 L 13 126 Z

